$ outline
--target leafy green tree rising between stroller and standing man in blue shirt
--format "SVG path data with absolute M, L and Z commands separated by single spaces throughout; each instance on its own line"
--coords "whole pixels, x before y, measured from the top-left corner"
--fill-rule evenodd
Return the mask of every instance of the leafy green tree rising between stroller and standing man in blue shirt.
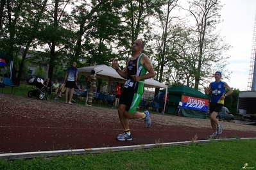
M 74 47 L 73 20 L 66 10 L 69 3 L 69 0 L 50 1 L 40 22 L 41 29 L 37 40 L 38 45 L 48 53 L 45 61 L 49 64 L 50 79 L 55 66 L 67 63 L 74 56 L 71 50 Z

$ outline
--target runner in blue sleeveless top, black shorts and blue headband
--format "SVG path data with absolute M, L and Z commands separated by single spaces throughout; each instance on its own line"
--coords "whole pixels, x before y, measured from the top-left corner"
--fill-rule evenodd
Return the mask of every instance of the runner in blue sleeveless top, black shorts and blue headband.
M 224 104 L 224 99 L 233 93 L 233 90 L 226 84 L 226 82 L 221 81 L 221 72 L 216 72 L 214 74 L 215 81 L 211 82 L 209 87 L 205 89 L 205 94 L 209 95 L 212 93 L 210 98 L 210 125 L 214 133 L 209 135 L 209 138 L 218 137 L 222 133 L 222 127 L 219 124 L 218 112 L 221 110 Z M 228 89 L 228 92 L 225 93 L 225 88 Z

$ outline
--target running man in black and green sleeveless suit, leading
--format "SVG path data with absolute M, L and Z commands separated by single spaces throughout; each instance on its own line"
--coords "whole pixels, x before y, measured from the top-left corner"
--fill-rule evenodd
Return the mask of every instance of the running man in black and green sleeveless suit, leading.
M 114 68 L 121 77 L 127 81 L 119 98 L 118 114 L 124 133 L 117 136 L 119 141 L 132 141 L 132 134 L 129 127 L 129 119 L 144 120 L 145 126 L 151 125 L 149 111 L 136 111 L 144 91 L 144 80 L 155 76 L 155 71 L 148 56 L 142 54 L 145 43 L 142 40 L 135 40 L 132 45 L 132 58 L 128 59 L 124 71 L 118 68 L 117 61 L 112 61 Z

